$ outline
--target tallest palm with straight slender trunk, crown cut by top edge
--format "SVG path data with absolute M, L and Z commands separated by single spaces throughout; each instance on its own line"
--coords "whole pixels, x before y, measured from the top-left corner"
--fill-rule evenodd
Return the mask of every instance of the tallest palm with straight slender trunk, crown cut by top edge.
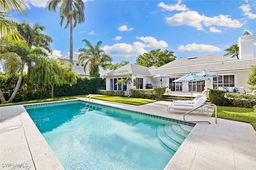
M 73 27 L 76 24 L 84 22 L 84 2 L 82 0 L 49 0 L 46 3 L 48 10 L 56 12 L 56 7 L 60 5 L 60 26 L 62 27 L 63 21 L 66 19 L 64 29 L 70 25 L 70 51 L 69 62 L 73 63 Z M 73 24 L 74 19 L 74 24 Z

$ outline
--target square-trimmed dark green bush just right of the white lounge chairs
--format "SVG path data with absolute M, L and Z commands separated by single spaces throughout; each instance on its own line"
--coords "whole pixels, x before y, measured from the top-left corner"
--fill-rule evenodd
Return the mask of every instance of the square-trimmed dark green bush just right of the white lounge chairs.
M 212 104 L 217 106 L 229 106 L 228 100 L 225 98 L 226 91 L 225 90 L 209 90 L 209 100 Z

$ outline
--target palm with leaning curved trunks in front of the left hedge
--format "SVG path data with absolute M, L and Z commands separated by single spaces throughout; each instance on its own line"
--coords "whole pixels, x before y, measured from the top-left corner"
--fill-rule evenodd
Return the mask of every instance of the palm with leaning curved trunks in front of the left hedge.
M 4 99 L 2 90 L 0 89 L 0 99 L 1 99 L 1 103 L 3 103 L 3 104 L 11 103 L 12 100 L 14 99 L 14 97 L 16 96 L 16 94 L 20 88 L 20 84 L 22 82 L 24 66 L 28 63 L 36 62 L 36 59 L 39 56 L 47 56 L 47 54 L 44 51 L 42 51 L 42 49 L 40 49 L 40 48 L 29 49 L 27 44 L 23 41 L 11 42 L 7 45 L 7 47 L 5 47 L 5 49 L 6 49 L 7 54 L 10 54 L 10 52 L 16 54 L 15 58 L 11 58 L 11 59 L 10 59 L 10 56 L 6 57 L 6 55 L 4 55 L 4 54 L 0 55 L 0 59 L 6 60 L 6 64 L 4 65 L 5 70 L 10 70 L 10 72 L 13 72 L 15 69 L 18 68 L 18 71 L 20 72 L 20 76 L 18 78 L 18 82 L 16 84 L 14 92 L 12 93 L 12 96 L 10 97 L 10 99 L 7 102 Z M 14 62 L 14 59 L 16 62 Z

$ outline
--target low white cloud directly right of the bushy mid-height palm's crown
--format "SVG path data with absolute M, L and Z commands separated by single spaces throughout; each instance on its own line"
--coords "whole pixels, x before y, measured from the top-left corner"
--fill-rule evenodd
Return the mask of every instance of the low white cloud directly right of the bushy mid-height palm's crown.
M 132 45 L 126 43 L 117 43 L 112 46 L 105 45 L 102 49 L 110 56 L 132 57 L 146 53 L 144 47 L 143 43 L 134 42 Z

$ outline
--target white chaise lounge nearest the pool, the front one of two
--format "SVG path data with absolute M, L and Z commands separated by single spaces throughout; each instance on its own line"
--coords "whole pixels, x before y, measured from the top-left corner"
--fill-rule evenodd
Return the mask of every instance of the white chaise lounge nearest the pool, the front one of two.
M 197 107 L 200 107 L 204 104 L 204 102 L 207 100 L 207 98 L 200 98 L 195 104 L 186 104 L 186 105 L 167 105 L 167 111 L 170 114 L 170 109 L 195 109 Z M 203 110 L 207 110 L 207 115 L 209 116 L 209 107 L 207 106 L 207 109 L 201 108 L 202 113 Z

